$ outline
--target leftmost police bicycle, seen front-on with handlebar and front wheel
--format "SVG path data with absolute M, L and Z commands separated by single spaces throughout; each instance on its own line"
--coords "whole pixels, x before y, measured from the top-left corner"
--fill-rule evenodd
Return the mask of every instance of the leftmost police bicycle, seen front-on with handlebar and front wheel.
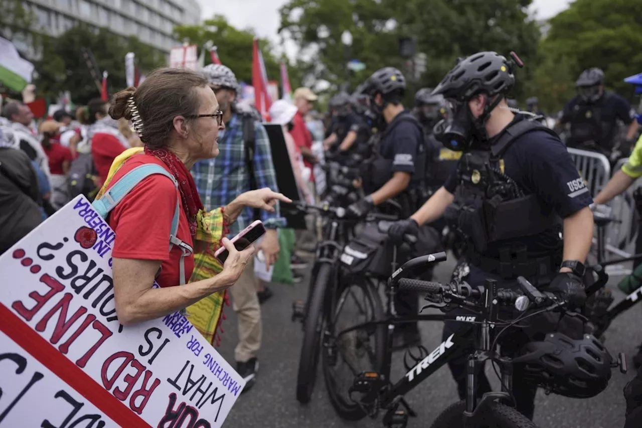
M 282 209 L 316 211 L 325 220 L 324 240 L 317 245 L 308 298 L 305 302 L 295 301 L 292 313 L 292 321 L 301 321 L 304 332 L 297 374 L 297 400 L 302 404 L 307 404 L 315 386 L 327 305 L 336 294 L 340 284 L 340 271 L 337 262 L 342 255 L 344 243 L 352 236 L 352 227 L 360 220 L 351 218 L 345 208 L 331 206 L 327 202 L 322 206 L 298 202 L 282 204 Z M 370 213 L 365 218 L 366 222 L 376 220 L 395 221 L 398 220 L 398 217 Z

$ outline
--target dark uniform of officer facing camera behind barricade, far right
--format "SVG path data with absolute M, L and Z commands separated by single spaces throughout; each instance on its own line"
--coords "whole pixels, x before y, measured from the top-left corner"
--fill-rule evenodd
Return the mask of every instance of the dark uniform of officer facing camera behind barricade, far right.
M 571 124 L 567 143 L 569 147 L 582 148 L 593 142 L 610 154 L 618 130 L 616 120 L 630 125 L 635 117 L 635 111 L 627 100 L 616 93 L 605 91 L 595 103 L 584 103 L 579 96 L 575 96 L 564 107 L 560 121 Z

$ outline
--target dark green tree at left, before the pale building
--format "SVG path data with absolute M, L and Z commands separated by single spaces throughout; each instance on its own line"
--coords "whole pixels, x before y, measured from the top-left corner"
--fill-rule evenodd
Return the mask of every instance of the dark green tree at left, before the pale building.
M 136 37 L 125 38 L 106 28 L 94 33 L 88 26 L 78 25 L 58 38 L 44 38 L 42 58 L 35 63 L 39 75 L 36 87 L 40 95 L 56 98 L 60 92 L 68 90 L 76 103 L 86 103 L 100 96 L 82 56 L 82 48 L 91 49 L 100 71 L 107 71 L 110 93 L 126 87 L 126 53 L 134 52 L 144 71 L 166 65 L 163 52 Z

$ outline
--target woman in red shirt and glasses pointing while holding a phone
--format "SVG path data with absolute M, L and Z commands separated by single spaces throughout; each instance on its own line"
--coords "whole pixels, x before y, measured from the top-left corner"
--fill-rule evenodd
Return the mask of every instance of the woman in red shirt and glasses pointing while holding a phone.
M 129 87 L 117 93 L 109 114 L 116 120 L 132 120 L 144 143 L 144 152 L 125 161 L 109 186 L 136 166 L 148 163 L 162 166 L 178 182 L 177 191 L 173 181 L 164 175 L 146 177 L 107 218 L 116 232 L 112 250 L 116 313 L 121 324 L 131 325 L 166 316 L 227 289 L 238 280 L 254 254 L 254 247 L 236 251 L 223 238 L 229 256 L 220 274 L 173 287 L 180 283 L 182 255 L 178 245 L 169 249 L 177 198 L 182 208 L 177 238 L 191 247 L 196 213 L 203 204 L 189 168 L 200 159 L 218 155 L 218 132 L 225 129 L 216 96 L 202 75 L 187 69 L 158 69 L 137 89 Z M 277 200 L 291 202 L 267 188 L 243 193 L 223 208 L 224 221 L 234 222 L 245 206 L 273 211 Z M 184 266 L 185 277 L 190 278 L 193 256 L 185 258 Z M 154 280 L 160 288 L 152 287 Z

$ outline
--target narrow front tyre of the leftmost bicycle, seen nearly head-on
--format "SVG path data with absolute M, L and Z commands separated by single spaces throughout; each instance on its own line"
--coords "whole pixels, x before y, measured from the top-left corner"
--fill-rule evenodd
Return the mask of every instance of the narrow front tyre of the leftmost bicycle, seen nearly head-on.
M 312 397 L 317 379 L 317 364 L 321 334 L 323 332 L 323 308 L 325 290 L 330 281 L 332 267 L 322 263 L 317 271 L 317 278 L 311 284 L 312 290 L 306 307 L 306 318 L 303 328 L 303 344 L 299 358 L 299 373 L 297 374 L 297 400 L 308 404 Z

